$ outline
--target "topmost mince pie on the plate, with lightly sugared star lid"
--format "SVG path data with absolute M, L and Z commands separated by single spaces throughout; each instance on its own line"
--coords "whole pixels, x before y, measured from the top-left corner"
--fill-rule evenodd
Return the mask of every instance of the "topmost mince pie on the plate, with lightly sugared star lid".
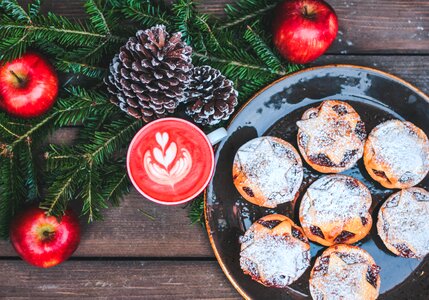
M 299 151 L 316 171 L 342 172 L 362 157 L 365 125 L 346 102 L 323 101 L 304 112 L 296 124 Z

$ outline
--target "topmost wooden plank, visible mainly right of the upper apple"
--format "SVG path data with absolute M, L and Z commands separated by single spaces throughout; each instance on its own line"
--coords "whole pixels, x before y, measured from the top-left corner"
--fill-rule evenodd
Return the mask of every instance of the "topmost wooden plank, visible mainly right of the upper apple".
M 28 0 L 27 0 L 28 1 Z M 82 17 L 84 0 L 46 0 L 52 11 Z M 201 11 L 224 16 L 233 0 L 196 1 Z M 429 54 L 429 1 L 427 0 L 328 0 L 339 18 L 339 32 L 330 54 L 425 53 Z

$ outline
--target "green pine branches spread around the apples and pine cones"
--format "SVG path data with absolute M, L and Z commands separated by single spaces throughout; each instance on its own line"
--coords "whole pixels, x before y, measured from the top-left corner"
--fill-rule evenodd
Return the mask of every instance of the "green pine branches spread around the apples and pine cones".
M 74 20 L 41 13 L 39 0 L 28 7 L 0 1 L 0 61 L 36 50 L 67 78 L 45 115 L 23 120 L 0 112 L 0 234 L 7 237 L 11 217 L 27 202 L 60 217 L 71 201 L 80 201 L 81 214 L 93 221 L 129 192 L 124 151 L 144 124 L 113 106 L 103 84 L 128 37 L 156 24 L 180 31 L 193 47 L 193 63 L 221 70 L 243 103 L 302 68 L 271 43 L 270 14 L 278 2 L 239 0 L 226 6 L 226 19 L 217 19 L 192 0 L 87 0 L 88 17 Z M 72 146 L 49 144 L 52 132 L 70 126 L 79 131 Z M 203 220 L 203 209 L 200 196 L 190 205 L 192 222 Z

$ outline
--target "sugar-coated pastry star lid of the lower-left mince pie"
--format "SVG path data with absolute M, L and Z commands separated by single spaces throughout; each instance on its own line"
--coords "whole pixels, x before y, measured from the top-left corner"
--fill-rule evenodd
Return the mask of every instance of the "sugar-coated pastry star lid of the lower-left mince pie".
M 310 265 L 308 245 L 291 235 L 270 235 L 252 226 L 241 241 L 241 268 L 267 286 L 285 287 Z

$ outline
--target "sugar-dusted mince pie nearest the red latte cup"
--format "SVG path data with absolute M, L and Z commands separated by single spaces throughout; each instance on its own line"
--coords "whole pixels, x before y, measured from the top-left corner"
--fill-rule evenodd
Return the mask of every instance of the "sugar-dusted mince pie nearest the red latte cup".
M 303 174 L 295 148 L 271 136 L 241 146 L 232 170 L 235 187 L 244 199 L 270 208 L 297 197 Z

